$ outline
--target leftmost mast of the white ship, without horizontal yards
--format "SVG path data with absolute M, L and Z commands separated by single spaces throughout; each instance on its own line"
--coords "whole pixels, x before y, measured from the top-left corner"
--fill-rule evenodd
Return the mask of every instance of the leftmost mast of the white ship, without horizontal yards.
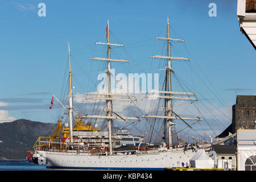
M 69 58 L 69 137 L 70 142 L 73 143 L 73 125 L 72 125 L 72 112 L 73 112 L 73 96 L 72 96 L 72 81 L 71 81 L 71 61 L 70 61 L 70 48 L 68 43 L 68 58 Z

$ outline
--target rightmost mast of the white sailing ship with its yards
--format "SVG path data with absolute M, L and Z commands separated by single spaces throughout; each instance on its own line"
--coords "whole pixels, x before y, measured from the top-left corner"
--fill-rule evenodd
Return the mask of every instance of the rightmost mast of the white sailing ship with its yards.
M 171 60 L 190 60 L 184 57 L 172 57 L 171 56 L 171 40 L 172 41 L 180 41 L 180 42 L 185 42 L 184 40 L 180 39 L 172 39 L 170 38 L 170 23 L 169 23 L 169 18 L 167 18 L 167 32 L 168 32 L 168 37 L 167 38 L 155 38 L 155 39 L 163 39 L 167 40 L 168 42 L 168 56 L 151 56 L 152 58 L 160 58 L 160 59 L 167 59 L 168 60 L 168 66 L 166 68 L 166 83 L 165 83 L 165 90 L 164 91 L 156 91 L 156 90 L 148 90 L 147 93 L 148 95 L 146 97 L 156 97 L 156 98 L 164 98 L 165 99 L 165 107 L 164 108 L 164 115 L 143 115 L 143 117 L 146 118 L 162 118 L 164 120 L 164 141 L 167 142 L 166 139 L 166 124 L 168 128 L 168 148 L 171 148 L 172 146 L 172 127 L 175 126 L 175 123 L 172 122 L 174 119 L 180 119 L 183 121 L 186 125 L 188 125 L 187 122 L 184 121 L 184 119 L 188 120 L 197 120 L 200 121 L 199 117 L 197 118 L 191 118 L 191 117 L 180 117 L 177 115 L 173 109 L 172 109 L 172 100 L 190 100 L 190 101 L 197 101 L 197 98 L 192 98 L 191 96 L 196 96 L 195 93 L 188 93 L 188 92 L 173 92 L 172 87 L 171 87 L 171 72 L 174 73 L 171 67 Z M 167 84 L 168 83 L 168 84 Z M 168 85 L 168 88 L 167 88 Z M 160 93 L 164 94 L 164 96 L 160 95 L 157 96 L 155 94 L 150 95 L 150 93 Z M 177 97 L 174 95 L 187 95 L 188 97 Z M 174 114 L 174 115 L 173 115 Z M 167 121 L 167 123 L 166 123 Z M 189 126 L 189 125 L 188 125 Z M 189 126 L 191 127 L 191 126 Z M 192 128 L 192 127 L 191 127 Z

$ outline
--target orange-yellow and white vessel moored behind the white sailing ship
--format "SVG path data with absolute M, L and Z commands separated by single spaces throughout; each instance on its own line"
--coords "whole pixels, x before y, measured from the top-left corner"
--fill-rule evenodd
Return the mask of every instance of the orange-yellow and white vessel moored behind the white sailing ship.
M 63 117 L 62 117 L 63 119 Z M 75 116 L 76 125 L 72 127 L 73 130 L 73 142 L 77 145 L 68 145 L 70 143 L 69 127 L 68 123 L 63 125 L 62 121 L 58 121 L 53 133 L 47 137 L 39 137 L 33 148 L 35 151 L 27 151 L 27 159 L 35 164 L 46 164 L 46 156 L 42 155 L 40 150 L 44 148 L 57 147 L 54 144 L 60 142 L 63 146 L 71 147 L 75 150 L 83 149 L 84 146 L 90 150 L 106 150 L 108 148 L 109 135 L 106 131 L 101 131 L 97 124 L 92 126 L 92 123 L 85 123 L 81 116 L 81 113 L 77 113 Z M 139 143 L 143 142 L 143 135 L 133 135 L 129 131 L 120 128 L 113 135 L 114 148 L 127 148 L 127 146 L 138 146 Z M 53 144 L 53 146 L 52 146 Z

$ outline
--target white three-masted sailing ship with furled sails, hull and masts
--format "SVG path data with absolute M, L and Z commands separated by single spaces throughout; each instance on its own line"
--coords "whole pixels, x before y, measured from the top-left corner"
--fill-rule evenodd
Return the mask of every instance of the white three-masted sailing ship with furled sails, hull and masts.
M 108 90 L 107 92 L 90 92 L 86 94 L 86 100 L 96 100 L 97 102 L 105 102 L 106 109 L 105 115 L 81 115 L 81 118 L 97 118 L 104 119 L 108 122 L 108 136 L 105 136 L 105 139 L 108 139 L 108 147 L 106 148 L 88 148 L 88 141 L 84 142 L 83 148 L 75 148 L 72 146 L 80 145 L 82 140 L 77 141 L 73 139 L 74 132 L 72 129 L 72 111 L 73 111 L 73 102 L 72 102 L 72 82 L 71 82 L 71 67 L 70 67 L 70 51 L 69 51 L 69 107 L 68 107 L 68 115 L 69 115 L 69 140 L 63 143 L 49 143 L 46 147 L 38 148 L 38 152 L 45 156 L 46 158 L 46 166 L 47 168 L 84 168 L 84 169 L 151 169 L 151 170 L 161 170 L 168 167 L 180 167 L 181 163 L 188 162 L 189 159 L 195 155 L 195 150 L 205 146 L 197 146 L 197 148 L 192 146 L 183 146 L 177 147 L 174 143 L 172 143 L 172 129 L 175 126 L 175 119 L 180 119 L 185 122 L 185 120 L 201 120 L 199 117 L 191 118 L 191 117 L 180 117 L 177 115 L 172 108 L 173 100 L 189 100 L 196 101 L 197 98 L 193 98 L 195 96 L 194 93 L 188 92 L 175 92 L 171 88 L 171 73 L 174 72 L 171 67 L 172 60 L 189 60 L 184 57 L 173 57 L 171 56 L 171 41 L 183 41 L 180 39 L 172 39 L 170 38 L 170 24 L 169 20 L 167 23 L 168 37 L 167 38 L 155 38 L 166 40 L 168 43 L 168 55 L 166 56 L 152 56 L 153 58 L 161 58 L 167 61 L 166 67 L 166 89 L 165 90 L 148 90 L 146 97 L 156 97 L 158 99 L 164 99 L 165 102 L 165 111 L 164 115 L 143 115 L 142 117 L 146 119 L 150 118 L 158 118 L 164 119 L 164 141 L 162 144 L 151 145 L 147 143 L 146 145 L 142 145 L 141 142 L 138 146 L 133 146 L 129 150 L 116 150 L 113 147 L 113 131 L 112 124 L 115 120 L 127 121 L 127 120 L 137 120 L 140 121 L 142 118 L 140 117 L 126 117 L 117 114 L 113 110 L 113 102 L 116 101 L 135 101 L 136 98 L 134 94 L 127 93 L 113 93 L 111 89 L 111 77 L 113 77 L 111 72 L 112 62 L 119 63 L 129 63 L 127 60 L 113 59 L 110 56 L 110 49 L 114 46 L 121 46 L 122 44 L 114 44 L 110 43 L 109 39 L 109 22 L 107 25 L 107 36 L 108 42 L 106 43 L 95 43 L 100 45 L 105 45 L 108 47 L 107 57 L 93 57 L 92 60 L 100 60 L 106 61 L 108 63 L 108 68 L 106 69 L 106 77 L 108 80 Z M 157 92 L 160 95 L 151 94 Z M 177 96 L 178 95 L 178 96 Z M 188 97 L 181 97 L 181 96 Z M 187 125 L 188 123 L 185 122 Z M 189 126 L 189 125 L 188 125 Z M 189 126 L 191 127 L 191 126 Z M 76 135 L 76 134 L 75 134 Z M 51 145 L 51 147 L 50 147 Z M 114 150 L 113 150 L 114 148 Z M 121 148 L 122 149 L 122 148 Z

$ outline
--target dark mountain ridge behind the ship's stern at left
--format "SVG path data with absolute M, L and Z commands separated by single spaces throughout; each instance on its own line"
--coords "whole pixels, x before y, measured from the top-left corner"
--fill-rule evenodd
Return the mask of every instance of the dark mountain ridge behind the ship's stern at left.
M 54 123 L 17 119 L 0 123 L 0 159 L 24 160 L 38 137 L 50 135 Z

